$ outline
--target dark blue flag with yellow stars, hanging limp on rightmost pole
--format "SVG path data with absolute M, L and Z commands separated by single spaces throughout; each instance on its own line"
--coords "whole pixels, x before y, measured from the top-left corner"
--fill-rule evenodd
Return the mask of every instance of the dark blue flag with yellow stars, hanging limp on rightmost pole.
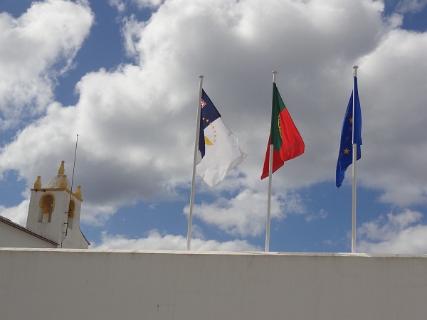
M 337 161 L 337 176 L 335 185 L 339 188 L 344 181 L 344 172 L 353 162 L 352 139 L 357 144 L 356 158 L 359 160 L 362 156 L 360 146 L 362 145 L 362 112 L 360 111 L 359 93 L 357 92 L 357 77 L 353 77 L 354 92 L 350 96 L 349 105 L 345 112 L 344 122 L 342 123 L 341 143 L 339 144 L 339 154 Z M 354 93 L 354 117 L 353 117 L 353 93 Z M 353 136 L 354 122 L 354 136 Z

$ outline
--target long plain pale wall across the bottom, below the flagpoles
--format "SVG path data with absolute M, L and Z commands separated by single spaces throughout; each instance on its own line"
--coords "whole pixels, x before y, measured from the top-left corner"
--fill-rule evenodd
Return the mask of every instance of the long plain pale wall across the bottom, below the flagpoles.
M 1 319 L 425 320 L 427 255 L 0 249 Z

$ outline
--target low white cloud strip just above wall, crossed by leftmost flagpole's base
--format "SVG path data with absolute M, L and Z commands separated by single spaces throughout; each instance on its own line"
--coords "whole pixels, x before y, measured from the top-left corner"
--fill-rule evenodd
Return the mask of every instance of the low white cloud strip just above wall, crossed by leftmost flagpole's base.
M 185 250 L 187 239 L 182 235 L 162 235 L 158 230 L 149 231 L 146 238 L 129 239 L 123 235 L 102 233 L 102 242 L 90 249 L 122 250 Z M 204 251 L 259 251 L 259 247 L 250 245 L 246 240 L 218 242 L 216 240 L 191 239 L 191 250 Z

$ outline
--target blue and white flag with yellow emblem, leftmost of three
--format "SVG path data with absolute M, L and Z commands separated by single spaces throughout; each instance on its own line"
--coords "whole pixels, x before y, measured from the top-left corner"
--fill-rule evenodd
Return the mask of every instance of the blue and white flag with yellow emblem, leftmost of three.
M 237 137 L 221 119 L 221 114 L 204 90 L 201 95 L 199 152 L 196 171 L 209 186 L 223 181 L 243 161 L 246 154 Z

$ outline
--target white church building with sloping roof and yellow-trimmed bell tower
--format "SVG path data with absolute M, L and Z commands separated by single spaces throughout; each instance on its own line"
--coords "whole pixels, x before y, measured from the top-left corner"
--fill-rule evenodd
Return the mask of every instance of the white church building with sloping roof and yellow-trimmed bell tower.
M 0 217 L 0 247 L 62 247 L 88 249 L 80 230 L 82 206 L 80 186 L 73 193 L 64 161 L 58 174 L 42 186 L 37 177 L 31 189 L 26 227 Z

